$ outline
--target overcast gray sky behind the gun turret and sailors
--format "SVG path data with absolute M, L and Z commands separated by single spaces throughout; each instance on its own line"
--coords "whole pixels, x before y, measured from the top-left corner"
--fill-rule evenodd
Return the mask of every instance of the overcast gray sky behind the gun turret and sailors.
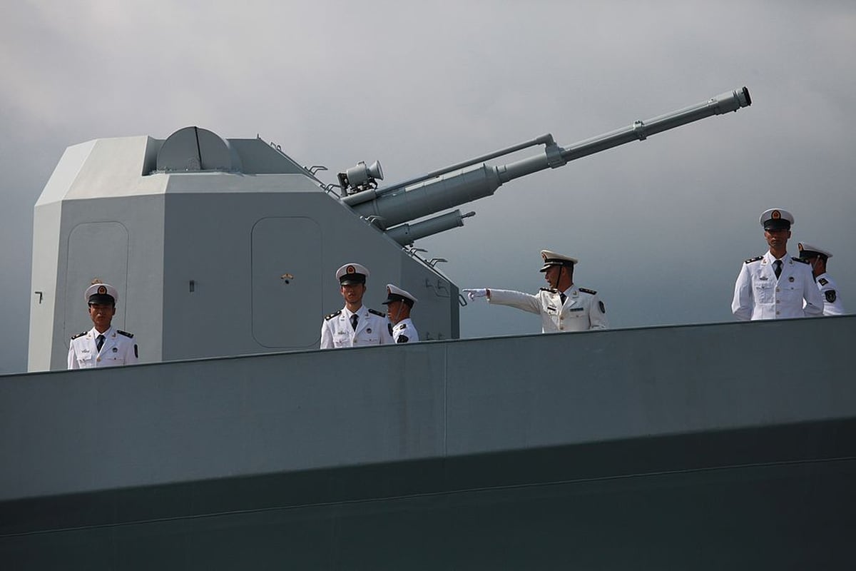
M 618 327 L 729 321 L 758 215 L 782 207 L 789 250 L 834 253 L 854 311 L 853 54 L 853 2 L 4 2 L 0 373 L 27 368 L 33 205 L 64 149 L 187 125 L 395 182 L 748 86 L 752 107 L 512 181 L 417 246 L 461 288 L 532 292 L 540 249 L 577 257 Z M 461 309 L 462 336 L 538 330 Z

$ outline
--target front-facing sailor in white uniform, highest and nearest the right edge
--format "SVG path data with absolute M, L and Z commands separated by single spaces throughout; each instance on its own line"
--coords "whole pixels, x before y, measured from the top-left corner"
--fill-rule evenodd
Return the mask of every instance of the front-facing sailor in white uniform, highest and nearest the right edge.
M 740 268 L 731 302 L 734 317 L 748 321 L 823 315 L 823 297 L 811 276 L 811 266 L 788 254 L 794 216 L 771 208 L 761 214 L 759 222 L 770 250 L 747 259 Z

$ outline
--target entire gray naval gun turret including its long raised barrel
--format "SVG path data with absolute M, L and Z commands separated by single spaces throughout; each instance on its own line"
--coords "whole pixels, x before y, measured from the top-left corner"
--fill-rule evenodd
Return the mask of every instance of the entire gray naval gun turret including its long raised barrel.
M 82 295 L 95 277 L 118 290 L 113 324 L 135 334 L 141 362 L 317 348 L 321 316 L 342 306 L 332 276 L 349 261 L 372 270 L 366 305 L 397 283 L 419 299 L 420 335 L 455 338 L 455 283 L 402 247 L 472 216 L 438 212 L 749 104 L 744 87 L 565 148 L 548 134 L 389 187 L 379 164 L 359 164 L 339 175 L 341 195 L 258 136 L 188 127 L 70 146 L 34 210 L 28 369 L 65 368 L 69 338 L 92 326 Z

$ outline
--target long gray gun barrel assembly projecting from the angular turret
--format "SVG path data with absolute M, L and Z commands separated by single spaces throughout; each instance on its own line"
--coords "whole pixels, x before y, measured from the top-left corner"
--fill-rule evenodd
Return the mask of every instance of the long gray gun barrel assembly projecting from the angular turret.
M 490 196 L 503 183 L 520 176 L 548 168 L 557 169 L 574 159 L 606 151 L 634 140 L 645 140 L 652 134 L 681 127 L 705 117 L 736 111 L 751 104 L 749 90 L 743 87 L 666 115 L 633 122 L 629 127 L 582 140 L 568 147 L 556 145 L 553 136 L 545 134 L 537 139 L 463 163 L 453 164 L 389 187 L 358 190 L 344 196 L 342 202 L 380 229 L 386 230 L 393 240 L 401 245 L 408 245 L 427 235 L 462 226 L 462 218 L 466 216 L 461 216 L 460 211 L 450 212 L 419 223 L 423 224 L 420 228 L 414 228 L 419 224 L 413 226 L 405 224 L 398 227 L 396 224 L 430 216 L 435 212 Z M 484 164 L 484 161 L 536 145 L 544 145 L 543 154 L 500 166 Z M 474 166 L 477 164 L 478 166 Z M 379 166 L 377 170 L 379 172 Z M 340 175 L 341 180 L 342 175 Z

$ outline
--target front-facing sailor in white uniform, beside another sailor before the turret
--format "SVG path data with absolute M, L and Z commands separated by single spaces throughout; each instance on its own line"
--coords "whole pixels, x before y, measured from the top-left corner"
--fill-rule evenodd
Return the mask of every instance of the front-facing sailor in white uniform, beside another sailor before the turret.
M 363 305 L 369 271 L 360 264 L 346 264 L 336 271 L 345 306 L 330 313 L 321 324 L 321 348 L 357 347 L 391 343 L 386 315 Z

